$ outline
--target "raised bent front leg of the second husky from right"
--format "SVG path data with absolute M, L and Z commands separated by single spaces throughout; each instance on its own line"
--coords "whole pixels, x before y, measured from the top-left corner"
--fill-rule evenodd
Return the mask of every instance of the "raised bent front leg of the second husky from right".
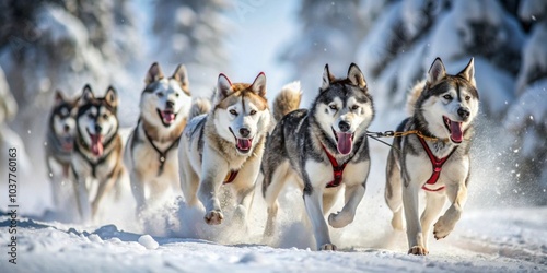
M 352 187 L 346 187 L 346 204 L 342 210 L 338 213 L 331 213 L 328 216 L 328 224 L 331 227 L 340 228 L 345 227 L 356 217 L 356 210 L 364 195 L 364 186 L 356 185 Z

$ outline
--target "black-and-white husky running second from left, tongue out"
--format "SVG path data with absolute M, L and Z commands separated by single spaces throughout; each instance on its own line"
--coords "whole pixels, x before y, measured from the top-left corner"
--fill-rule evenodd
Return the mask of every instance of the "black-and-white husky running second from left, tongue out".
M 123 174 L 121 139 L 116 116 L 118 97 L 110 86 L 96 98 L 90 85 L 83 87 L 75 116 L 75 140 L 71 169 L 82 221 L 95 217 L 98 204 Z M 90 207 L 90 191 L 96 188 Z

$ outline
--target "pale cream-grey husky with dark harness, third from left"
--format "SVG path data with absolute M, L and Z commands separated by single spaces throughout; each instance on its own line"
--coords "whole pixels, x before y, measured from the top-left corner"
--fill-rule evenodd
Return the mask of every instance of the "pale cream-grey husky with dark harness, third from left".
M 187 72 L 182 64 L 171 78 L 165 78 L 154 62 L 144 83 L 140 118 L 124 154 L 137 213 L 168 190 L 181 191 L 176 149 L 191 105 Z

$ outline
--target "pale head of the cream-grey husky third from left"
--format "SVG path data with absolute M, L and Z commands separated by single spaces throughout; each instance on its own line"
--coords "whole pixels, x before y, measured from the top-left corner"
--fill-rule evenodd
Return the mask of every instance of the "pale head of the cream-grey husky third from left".
M 171 78 L 154 62 L 144 79 L 140 99 L 141 118 L 156 128 L 171 128 L 183 120 L 191 104 L 186 68 L 179 64 Z

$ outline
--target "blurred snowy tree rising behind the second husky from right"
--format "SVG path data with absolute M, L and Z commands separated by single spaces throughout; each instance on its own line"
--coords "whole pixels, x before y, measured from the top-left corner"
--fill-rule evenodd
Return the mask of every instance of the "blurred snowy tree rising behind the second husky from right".
M 368 7 L 377 10 L 377 5 L 382 4 L 369 3 Z M 299 12 L 301 31 L 283 49 L 281 60 L 294 66 L 294 79 L 290 80 L 302 82 L 303 106 L 315 97 L 325 63 L 341 78 L 354 61 L 358 41 L 366 31 L 359 7 L 357 0 L 302 1 Z

